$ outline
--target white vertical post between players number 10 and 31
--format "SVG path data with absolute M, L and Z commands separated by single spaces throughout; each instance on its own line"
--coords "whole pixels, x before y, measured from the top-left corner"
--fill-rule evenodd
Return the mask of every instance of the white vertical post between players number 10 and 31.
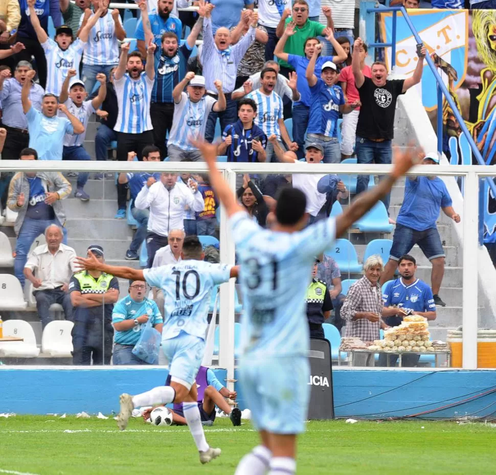
M 236 173 L 224 170 L 229 186 L 236 193 Z M 234 241 L 228 225 L 226 209 L 220 209 L 220 262 L 222 264 L 235 263 Z M 226 387 L 234 390 L 234 280 L 220 286 L 219 312 L 219 367 L 227 369 Z

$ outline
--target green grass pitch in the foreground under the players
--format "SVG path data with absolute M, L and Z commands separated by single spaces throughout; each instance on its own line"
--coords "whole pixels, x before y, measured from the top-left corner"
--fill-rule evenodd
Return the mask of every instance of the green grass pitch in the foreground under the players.
M 154 427 L 131 419 L 67 416 L 0 418 L 0 474 L 233 474 L 257 444 L 249 422 L 217 419 L 207 440 L 222 455 L 200 465 L 187 427 Z M 496 473 L 495 424 L 312 421 L 300 438 L 299 475 L 485 475 Z

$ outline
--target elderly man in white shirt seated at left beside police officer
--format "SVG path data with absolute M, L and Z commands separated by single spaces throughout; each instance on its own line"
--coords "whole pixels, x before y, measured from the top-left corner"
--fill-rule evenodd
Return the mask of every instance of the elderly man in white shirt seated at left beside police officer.
M 64 309 L 65 320 L 72 320 L 69 280 L 79 269 L 74 258 L 76 251 L 62 244 L 62 228 L 51 224 L 45 230 L 46 244 L 35 247 L 24 267 L 24 275 L 34 287 L 33 295 L 42 328 L 53 318 L 50 314 L 52 304 L 60 304 Z

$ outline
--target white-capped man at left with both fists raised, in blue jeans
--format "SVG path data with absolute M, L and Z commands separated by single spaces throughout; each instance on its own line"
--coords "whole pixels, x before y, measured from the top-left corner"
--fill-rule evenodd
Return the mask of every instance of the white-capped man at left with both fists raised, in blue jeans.
M 84 82 L 76 77 L 77 71 L 74 69 L 67 72 L 67 76 L 62 83 L 60 91 L 60 102 L 65 104 L 67 110 L 75 116 L 84 126 L 84 132 L 79 134 L 65 134 L 64 148 L 62 152 L 62 160 L 91 160 L 88 152 L 84 149 L 84 137 L 89 121 L 89 117 L 97 110 L 105 100 L 107 94 L 106 80 L 107 77 L 103 73 L 98 73 L 97 81 L 100 83 L 98 95 L 92 100 L 86 101 L 87 93 L 84 87 Z M 59 115 L 61 112 L 59 112 Z M 77 180 L 76 191 L 74 196 L 82 201 L 88 201 L 89 195 L 83 190 L 84 185 L 88 180 L 88 173 L 79 173 Z

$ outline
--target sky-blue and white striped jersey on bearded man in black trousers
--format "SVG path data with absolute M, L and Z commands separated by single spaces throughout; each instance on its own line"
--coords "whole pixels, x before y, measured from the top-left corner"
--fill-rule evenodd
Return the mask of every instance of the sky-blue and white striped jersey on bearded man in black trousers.
M 153 80 L 145 72 L 139 79 L 131 79 L 126 73 L 114 79 L 119 114 L 114 126 L 116 132 L 142 133 L 152 130 L 150 100 Z

